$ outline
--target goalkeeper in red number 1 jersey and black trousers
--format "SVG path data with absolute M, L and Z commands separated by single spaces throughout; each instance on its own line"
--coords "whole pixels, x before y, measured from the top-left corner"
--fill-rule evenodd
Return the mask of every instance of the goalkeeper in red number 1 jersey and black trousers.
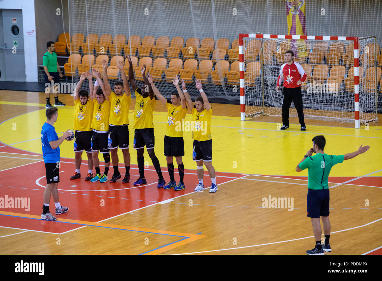
M 306 80 L 306 73 L 303 67 L 293 61 L 295 54 L 291 50 L 285 52 L 286 63 L 281 66 L 280 75 L 277 78 L 276 91 L 280 89 L 280 83 L 285 77 L 283 88 L 283 125 L 281 130 L 289 128 L 289 107 L 290 104 L 295 104 L 298 121 L 301 124 L 301 131 L 306 130 L 304 122 L 303 97 L 301 96 L 301 84 Z

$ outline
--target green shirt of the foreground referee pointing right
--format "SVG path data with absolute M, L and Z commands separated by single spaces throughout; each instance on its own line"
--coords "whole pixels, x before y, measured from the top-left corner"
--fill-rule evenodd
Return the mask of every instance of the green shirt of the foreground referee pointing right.
M 317 153 L 314 156 L 308 156 L 308 158 L 298 164 L 301 170 L 308 168 L 308 188 L 329 188 L 328 177 L 330 170 L 335 164 L 342 163 L 344 158 L 344 155 Z

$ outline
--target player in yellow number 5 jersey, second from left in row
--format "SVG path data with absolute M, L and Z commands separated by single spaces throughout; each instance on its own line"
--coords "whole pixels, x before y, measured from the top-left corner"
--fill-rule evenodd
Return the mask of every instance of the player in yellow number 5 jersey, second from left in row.
M 92 138 L 91 138 L 91 146 L 92 146 L 92 154 L 93 154 L 93 163 L 95 167 L 95 176 L 90 180 L 91 182 L 96 182 L 99 180 L 100 182 L 106 182 L 107 173 L 110 167 L 110 154 L 109 149 L 107 147 L 107 133 L 109 131 L 109 116 L 110 116 L 110 100 L 108 99 L 105 86 L 100 78 L 100 72 L 97 72 L 93 68 L 92 70 L 93 76 L 97 79 L 94 83 L 93 90 L 93 119 L 91 128 Z M 97 89 L 98 86 L 101 89 Z M 99 159 L 98 159 L 98 151 L 102 153 L 105 160 L 105 172 L 101 177 L 100 169 L 99 169 Z

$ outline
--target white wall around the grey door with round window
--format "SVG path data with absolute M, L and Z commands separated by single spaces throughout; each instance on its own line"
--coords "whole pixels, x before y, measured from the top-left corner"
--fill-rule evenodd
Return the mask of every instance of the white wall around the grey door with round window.
M 26 30 L 36 30 L 34 0 L 0 0 L 0 9 L 23 10 L 24 59 L 27 82 L 37 82 L 36 36 L 27 37 Z

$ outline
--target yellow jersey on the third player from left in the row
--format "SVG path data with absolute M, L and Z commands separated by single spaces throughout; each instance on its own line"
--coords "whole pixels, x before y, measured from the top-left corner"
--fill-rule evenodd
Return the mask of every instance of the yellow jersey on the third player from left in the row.
M 129 108 L 131 103 L 131 95 L 117 96 L 113 91 L 109 96 L 110 99 L 110 118 L 109 124 L 120 126 L 129 125 Z

